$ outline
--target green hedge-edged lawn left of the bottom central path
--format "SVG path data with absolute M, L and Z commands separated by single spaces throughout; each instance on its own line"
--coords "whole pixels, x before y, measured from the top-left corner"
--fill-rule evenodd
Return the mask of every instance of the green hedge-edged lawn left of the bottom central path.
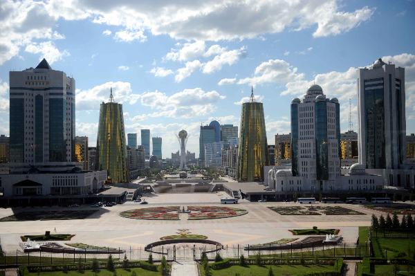
M 150 270 L 144 270 L 142 268 L 130 268 L 129 271 L 128 270 L 124 270 L 122 268 L 118 268 L 116 269 L 117 272 L 117 276 L 131 276 L 131 273 L 133 271 L 136 271 L 136 275 L 140 276 L 140 275 L 145 275 L 145 276 L 155 276 L 155 275 L 160 275 L 160 272 L 158 271 L 150 271 Z M 112 271 L 106 270 L 106 269 L 102 269 L 100 270 L 99 273 L 94 273 L 92 270 L 85 270 L 84 272 L 80 273 L 78 271 L 68 271 L 67 273 L 63 273 L 62 271 L 53 271 L 53 272 L 42 272 L 42 273 L 28 273 L 29 275 L 23 275 L 23 276 L 38 276 L 38 275 L 42 275 L 42 276 L 113 276 L 114 273 Z

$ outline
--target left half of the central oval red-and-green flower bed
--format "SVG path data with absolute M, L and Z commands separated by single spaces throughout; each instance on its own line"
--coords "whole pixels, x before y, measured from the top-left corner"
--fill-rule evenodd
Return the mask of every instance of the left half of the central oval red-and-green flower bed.
M 178 208 L 178 206 L 140 208 L 120 212 L 120 216 L 129 219 L 178 221 Z

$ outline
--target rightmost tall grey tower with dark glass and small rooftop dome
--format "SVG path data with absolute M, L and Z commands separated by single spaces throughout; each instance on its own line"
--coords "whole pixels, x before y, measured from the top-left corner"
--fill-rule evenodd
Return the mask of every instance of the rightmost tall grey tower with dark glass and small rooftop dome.
M 405 68 L 378 59 L 358 80 L 359 163 L 398 169 L 406 156 Z

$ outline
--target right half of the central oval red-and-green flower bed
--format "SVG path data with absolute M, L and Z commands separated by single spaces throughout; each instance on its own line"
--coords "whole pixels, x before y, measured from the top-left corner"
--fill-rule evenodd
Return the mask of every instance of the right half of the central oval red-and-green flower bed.
M 248 214 L 247 210 L 222 206 L 188 206 L 189 220 L 196 219 L 222 219 Z

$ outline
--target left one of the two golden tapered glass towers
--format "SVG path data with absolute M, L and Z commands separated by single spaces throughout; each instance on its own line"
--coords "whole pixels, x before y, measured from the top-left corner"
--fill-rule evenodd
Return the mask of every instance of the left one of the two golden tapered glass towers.
M 109 102 L 102 102 L 98 125 L 96 168 L 106 169 L 113 183 L 129 180 L 122 104 L 114 102 L 112 89 Z

